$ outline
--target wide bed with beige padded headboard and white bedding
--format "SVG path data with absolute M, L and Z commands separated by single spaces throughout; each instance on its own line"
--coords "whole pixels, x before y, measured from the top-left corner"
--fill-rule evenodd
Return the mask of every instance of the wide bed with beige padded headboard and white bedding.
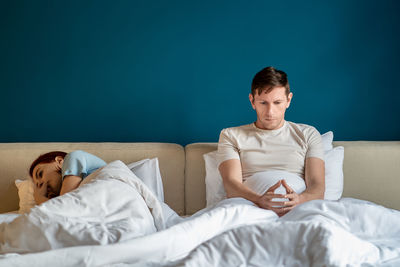
M 312 201 L 282 219 L 243 199 L 206 208 L 204 155 L 216 143 L 0 144 L 0 266 L 398 265 L 400 142 L 333 147 L 344 148 L 341 199 Z M 77 149 L 110 164 L 70 197 L 18 213 L 15 180 L 27 178 L 33 159 Z M 129 171 L 154 158 L 162 196 Z

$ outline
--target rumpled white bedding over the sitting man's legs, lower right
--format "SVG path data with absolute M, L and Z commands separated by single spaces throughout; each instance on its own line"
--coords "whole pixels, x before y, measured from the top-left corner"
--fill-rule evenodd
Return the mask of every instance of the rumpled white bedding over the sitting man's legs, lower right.
M 170 266 L 395 266 L 399 259 L 400 212 L 347 198 L 310 201 L 275 221 L 227 231 Z

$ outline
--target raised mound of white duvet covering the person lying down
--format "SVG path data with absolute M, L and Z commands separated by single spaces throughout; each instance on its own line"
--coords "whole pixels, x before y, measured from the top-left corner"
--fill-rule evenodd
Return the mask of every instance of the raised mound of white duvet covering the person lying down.
M 2 223 L 1 253 L 105 245 L 164 229 L 159 201 L 121 161 L 84 181 L 78 189 Z

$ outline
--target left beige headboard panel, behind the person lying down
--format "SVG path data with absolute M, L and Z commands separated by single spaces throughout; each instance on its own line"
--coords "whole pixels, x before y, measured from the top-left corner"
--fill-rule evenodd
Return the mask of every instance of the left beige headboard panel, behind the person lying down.
M 0 144 L 0 213 L 18 209 L 14 181 L 28 177 L 28 169 L 40 154 L 61 150 L 84 150 L 106 162 L 125 163 L 157 157 L 164 184 L 164 197 L 176 212 L 184 214 L 184 148 L 168 143 L 2 143 Z

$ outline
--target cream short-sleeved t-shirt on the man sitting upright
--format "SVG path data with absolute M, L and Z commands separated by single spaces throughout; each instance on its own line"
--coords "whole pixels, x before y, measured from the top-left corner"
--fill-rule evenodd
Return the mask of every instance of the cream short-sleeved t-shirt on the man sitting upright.
M 240 160 L 243 181 L 268 170 L 287 171 L 304 179 L 308 157 L 324 160 L 321 135 L 310 125 L 290 121 L 276 130 L 263 130 L 254 123 L 227 128 L 218 142 L 218 162 Z

